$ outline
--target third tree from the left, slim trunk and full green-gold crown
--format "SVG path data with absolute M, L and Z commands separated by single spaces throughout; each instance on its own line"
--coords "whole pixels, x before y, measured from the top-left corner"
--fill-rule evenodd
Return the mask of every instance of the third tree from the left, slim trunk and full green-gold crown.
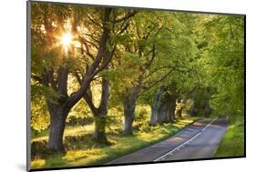
M 186 33 L 186 27 L 175 15 L 139 12 L 131 19 L 124 35 L 117 37 L 120 40 L 117 48 L 119 58 L 112 62 L 114 67 L 103 75 L 115 83 L 114 94 L 123 103 L 125 135 L 132 134 L 138 97 L 158 86 L 172 72 L 187 71 L 184 64 L 189 61 L 188 56 L 193 58 L 196 52 L 194 43 L 189 36 L 186 37 L 189 33 L 180 36 Z M 184 44 L 189 50 L 187 54 L 176 51 Z

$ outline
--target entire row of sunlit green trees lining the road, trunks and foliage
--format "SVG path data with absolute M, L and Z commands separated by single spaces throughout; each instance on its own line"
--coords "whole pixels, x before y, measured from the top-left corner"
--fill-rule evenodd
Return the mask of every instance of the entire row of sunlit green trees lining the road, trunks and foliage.
M 243 18 L 128 8 L 31 5 L 31 126 L 49 127 L 47 147 L 64 151 L 67 117 L 94 117 L 107 142 L 109 108 L 123 111 L 132 135 L 135 109 L 150 125 L 191 116 L 243 114 Z M 79 116 L 79 115 L 78 115 Z

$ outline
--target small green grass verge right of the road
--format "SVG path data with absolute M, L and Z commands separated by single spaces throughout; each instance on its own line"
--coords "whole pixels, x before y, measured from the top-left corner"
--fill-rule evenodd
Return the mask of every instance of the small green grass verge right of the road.
M 244 121 L 242 117 L 231 119 L 224 137 L 220 141 L 214 157 L 244 156 Z

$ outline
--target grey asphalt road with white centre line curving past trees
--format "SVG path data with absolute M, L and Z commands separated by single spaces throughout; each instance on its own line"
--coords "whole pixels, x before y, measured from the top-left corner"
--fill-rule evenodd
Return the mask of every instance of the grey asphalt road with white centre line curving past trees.
M 129 164 L 213 157 L 227 129 L 227 120 L 200 120 L 173 137 L 107 164 Z

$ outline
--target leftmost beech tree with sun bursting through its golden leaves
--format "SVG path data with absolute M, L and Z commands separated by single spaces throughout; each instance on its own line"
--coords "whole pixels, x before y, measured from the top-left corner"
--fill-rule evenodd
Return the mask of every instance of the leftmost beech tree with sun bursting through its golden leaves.
M 66 119 L 69 111 L 77 102 L 85 95 L 90 82 L 97 76 L 98 72 L 106 68 L 110 57 L 108 54 L 108 38 L 109 29 L 108 22 L 111 9 L 105 8 L 100 11 L 101 34 L 99 36 L 97 55 L 91 61 L 81 60 L 83 55 L 77 54 L 74 46 L 60 45 L 59 37 L 65 32 L 76 32 L 78 20 L 82 15 L 86 16 L 89 10 L 81 10 L 79 7 L 67 5 L 45 5 L 32 4 L 32 66 L 41 66 L 41 70 L 32 70 L 32 79 L 34 79 L 40 87 L 56 93 L 55 96 L 46 96 L 47 110 L 50 115 L 50 129 L 48 148 L 64 151 L 63 134 L 66 125 Z M 73 10 L 72 10 L 73 9 Z M 80 16 L 80 18 L 78 17 Z M 89 20 L 87 18 L 87 20 Z M 70 23 L 68 23 L 70 22 Z M 75 33 L 76 34 L 76 33 Z M 38 35 L 38 36 L 37 36 Z M 68 35 L 62 37 L 69 39 Z M 61 39 L 61 38 L 60 38 Z M 74 39 L 77 39 L 74 37 Z M 64 40 L 67 41 L 67 40 Z M 65 42 L 64 42 L 65 44 Z M 63 47 L 66 46 L 66 47 Z M 92 45 L 93 46 L 93 45 Z M 63 50 L 65 49 L 65 52 Z M 81 48 L 81 47 L 80 47 Z M 43 50 L 43 51 L 42 51 Z M 81 58 L 75 58 L 80 56 Z M 73 63 L 70 63 L 72 61 Z M 79 64 L 79 61 L 83 61 Z M 73 66 L 77 65 L 78 66 Z M 86 64 L 86 66 L 83 66 Z M 82 66 L 81 66 L 82 65 Z M 71 94 L 67 94 L 68 75 L 77 68 L 87 68 L 85 78 L 81 86 Z M 46 92 L 45 92 L 46 93 Z

